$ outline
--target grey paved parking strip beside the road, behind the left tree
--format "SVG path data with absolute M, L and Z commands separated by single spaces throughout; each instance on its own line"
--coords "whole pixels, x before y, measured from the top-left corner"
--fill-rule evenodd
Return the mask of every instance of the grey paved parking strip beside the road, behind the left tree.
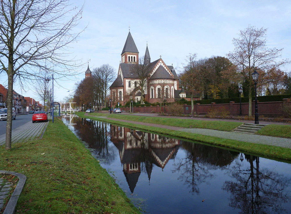
M 32 123 L 31 121 L 17 127 L 12 130 L 11 139 L 12 143 L 17 143 L 20 141 L 28 141 L 39 137 L 48 122 L 37 122 Z M 0 146 L 5 144 L 6 134 L 0 135 Z

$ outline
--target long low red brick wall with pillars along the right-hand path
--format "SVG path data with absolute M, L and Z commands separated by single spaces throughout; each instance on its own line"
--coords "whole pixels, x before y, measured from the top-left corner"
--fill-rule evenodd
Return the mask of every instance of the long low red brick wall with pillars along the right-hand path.
M 265 117 L 282 117 L 284 116 L 282 111 L 282 104 L 283 102 L 290 102 L 290 99 L 283 99 L 282 101 L 278 102 L 259 102 L 258 101 L 258 113 L 259 115 L 263 115 Z M 235 103 L 233 101 L 226 103 L 226 104 L 215 104 L 215 102 L 212 102 L 211 104 L 206 105 L 200 105 L 200 103 L 197 103 L 194 105 L 194 112 L 196 114 L 205 115 L 208 113 L 208 109 L 210 108 L 224 108 L 227 111 L 230 112 L 230 115 L 232 116 L 238 116 L 239 115 L 239 103 Z M 121 110 L 129 111 L 129 107 L 121 107 Z M 163 107 L 162 107 L 163 109 Z M 133 107 L 134 112 L 144 112 L 144 113 L 150 113 L 150 112 L 156 112 L 161 113 L 160 106 L 139 106 L 139 107 Z M 166 105 L 166 113 L 170 113 L 167 109 Z M 184 104 L 184 114 L 191 114 L 191 105 Z M 249 115 L 249 103 L 244 102 L 242 103 L 242 116 L 248 116 Z M 255 100 L 252 102 L 252 115 L 255 115 Z

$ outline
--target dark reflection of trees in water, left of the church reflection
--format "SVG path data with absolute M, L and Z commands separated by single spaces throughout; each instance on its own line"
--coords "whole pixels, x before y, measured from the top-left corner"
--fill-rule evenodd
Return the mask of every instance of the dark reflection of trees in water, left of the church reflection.
M 100 121 L 87 121 L 84 118 L 74 118 L 73 125 L 75 133 L 86 142 L 88 148 L 93 149 L 92 153 L 100 159 L 104 159 L 104 163 L 108 164 L 114 160 L 113 147 L 109 147 L 110 124 Z

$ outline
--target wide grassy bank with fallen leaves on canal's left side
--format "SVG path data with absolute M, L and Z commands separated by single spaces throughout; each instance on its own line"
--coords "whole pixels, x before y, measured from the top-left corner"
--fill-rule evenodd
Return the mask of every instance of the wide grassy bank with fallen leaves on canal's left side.
M 0 170 L 26 175 L 16 213 L 139 213 L 83 143 L 56 119 L 41 140 L 0 147 Z

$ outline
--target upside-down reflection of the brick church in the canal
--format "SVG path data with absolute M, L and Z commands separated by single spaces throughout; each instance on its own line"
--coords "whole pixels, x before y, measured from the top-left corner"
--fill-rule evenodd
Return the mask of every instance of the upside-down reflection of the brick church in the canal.
M 132 193 L 141 174 L 141 164 L 150 181 L 153 164 L 164 169 L 168 161 L 175 157 L 180 145 L 180 140 L 158 134 L 115 125 L 110 128 L 111 141 L 119 150 L 123 172 Z

